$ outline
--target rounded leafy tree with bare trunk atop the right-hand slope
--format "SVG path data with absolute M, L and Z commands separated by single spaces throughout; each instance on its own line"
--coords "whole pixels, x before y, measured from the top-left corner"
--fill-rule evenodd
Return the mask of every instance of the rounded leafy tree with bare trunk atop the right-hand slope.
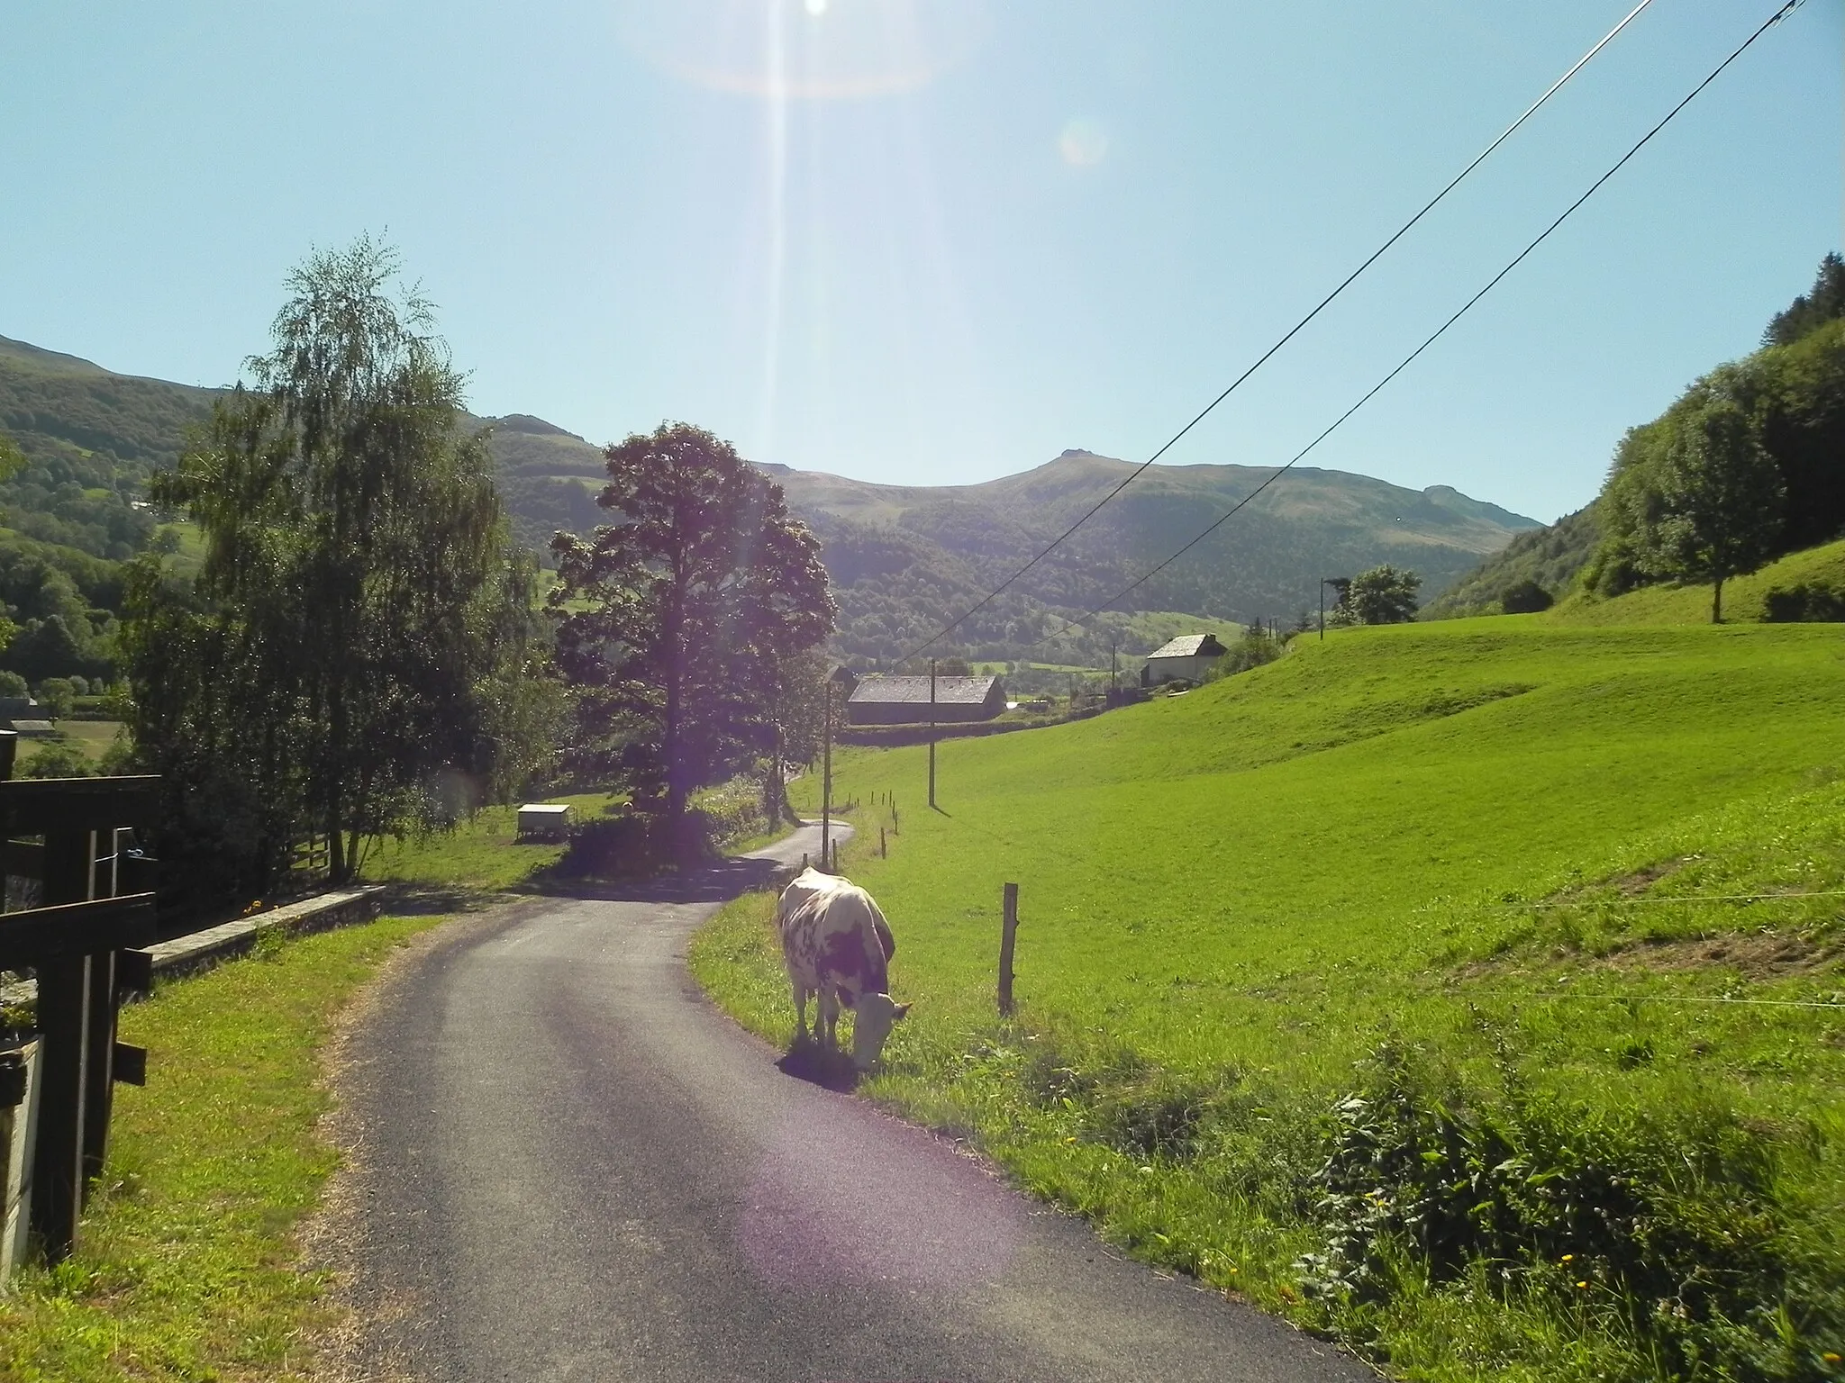
M 1666 419 L 1649 452 L 1609 487 L 1635 566 L 1653 577 L 1710 581 L 1710 620 L 1723 620 L 1723 583 L 1775 555 L 1786 483 L 1755 424 L 1712 395 Z

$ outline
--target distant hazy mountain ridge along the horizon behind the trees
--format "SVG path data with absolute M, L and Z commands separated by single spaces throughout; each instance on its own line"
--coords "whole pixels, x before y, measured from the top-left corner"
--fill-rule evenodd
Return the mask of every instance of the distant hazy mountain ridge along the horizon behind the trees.
M 0 487 L 28 537 L 96 557 L 138 551 L 155 516 L 137 507 L 148 472 L 170 463 L 212 391 L 142 380 L 76 356 L 0 337 L 0 431 L 31 465 Z M 493 428 L 500 489 L 522 542 L 542 550 L 559 529 L 601 518 L 601 454 L 542 419 L 472 419 Z M 978 601 L 1113 489 L 1125 461 L 1065 452 L 982 485 L 873 485 L 766 467 L 793 513 L 821 537 L 839 590 L 836 651 L 889 660 Z M 1111 640 L 1138 647 L 1127 618 L 1037 644 L 1070 616 L 1133 581 L 1249 494 L 1256 467 L 1153 467 L 1066 548 L 980 612 L 943 653 L 1033 656 L 1100 666 Z M 1317 581 L 1378 562 L 1410 566 L 1435 594 L 1530 518 L 1448 487 L 1410 491 L 1365 476 L 1301 468 L 1260 496 L 1196 555 L 1140 586 L 1125 614 L 1175 610 L 1216 621 L 1288 620 L 1312 607 Z M 1149 645 L 1151 647 L 1151 645 Z

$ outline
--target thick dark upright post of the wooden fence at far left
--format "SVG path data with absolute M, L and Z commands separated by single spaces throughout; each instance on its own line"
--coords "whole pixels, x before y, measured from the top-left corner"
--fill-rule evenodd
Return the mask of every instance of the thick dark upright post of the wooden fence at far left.
M 44 902 L 81 904 L 90 889 L 90 832 L 44 837 Z M 39 1147 L 31 1160 L 31 1228 L 54 1263 L 77 1247 L 83 1213 L 83 1116 L 89 1110 L 90 957 L 39 964 Z

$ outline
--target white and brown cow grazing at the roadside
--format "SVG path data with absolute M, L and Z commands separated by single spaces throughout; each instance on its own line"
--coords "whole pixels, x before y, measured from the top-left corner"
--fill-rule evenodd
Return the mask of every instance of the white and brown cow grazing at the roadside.
M 838 1046 L 834 1033 L 843 1003 L 852 1022 L 852 1064 L 871 1070 L 891 1025 L 910 1012 L 891 994 L 887 963 L 897 940 L 871 894 L 849 880 L 804 869 L 782 889 L 775 907 L 782 959 L 795 992 L 795 1034 L 806 1040 L 806 1001 L 819 996 L 814 1040 Z

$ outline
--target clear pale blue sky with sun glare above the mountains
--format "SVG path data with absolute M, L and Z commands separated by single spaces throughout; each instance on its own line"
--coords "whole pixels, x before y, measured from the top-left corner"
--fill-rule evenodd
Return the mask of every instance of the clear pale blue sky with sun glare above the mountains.
M 1142 459 L 1631 4 L 6 0 L 0 334 L 225 384 L 371 230 L 480 413 Z M 1771 9 L 1655 0 L 1166 459 L 1286 459 Z M 1841 57 L 1808 0 L 1314 463 L 1585 503 L 1845 238 Z

